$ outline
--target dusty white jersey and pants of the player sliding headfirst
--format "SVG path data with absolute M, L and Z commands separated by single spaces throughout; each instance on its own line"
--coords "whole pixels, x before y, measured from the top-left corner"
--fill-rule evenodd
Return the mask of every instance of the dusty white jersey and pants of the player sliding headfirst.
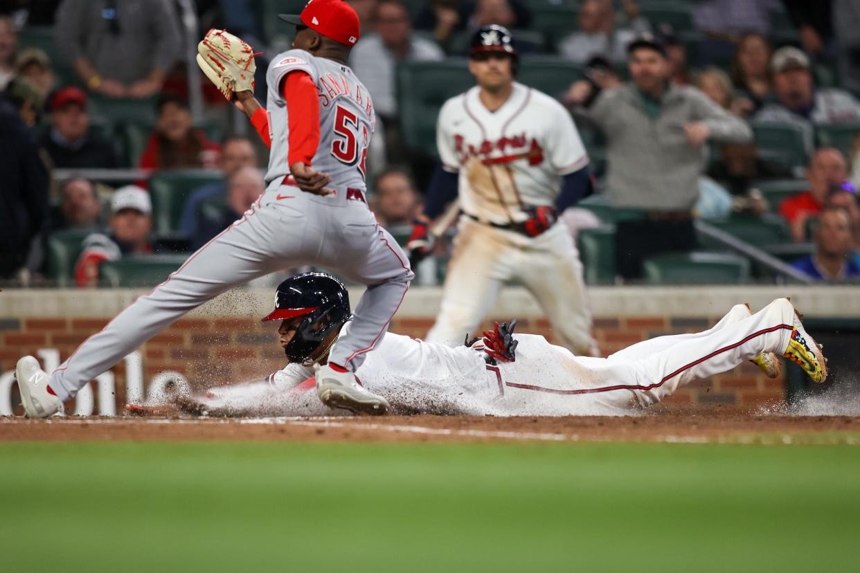
M 389 399 L 395 411 L 629 414 L 631 406 L 654 404 L 691 381 L 726 372 L 761 353 L 783 353 L 794 320 L 794 307 L 784 298 L 756 314 L 739 304 L 710 330 L 652 338 L 608 358 L 576 357 L 542 336 L 517 334 L 516 360 L 497 364 L 485 361 L 480 341 L 471 348 L 449 348 L 388 332 L 356 375 Z M 312 385 L 295 392 L 312 375 L 312 369 L 290 364 L 266 382 L 218 388 L 202 401 L 241 411 L 287 396 L 292 400 L 281 401 L 282 409 L 274 412 L 326 413 Z

